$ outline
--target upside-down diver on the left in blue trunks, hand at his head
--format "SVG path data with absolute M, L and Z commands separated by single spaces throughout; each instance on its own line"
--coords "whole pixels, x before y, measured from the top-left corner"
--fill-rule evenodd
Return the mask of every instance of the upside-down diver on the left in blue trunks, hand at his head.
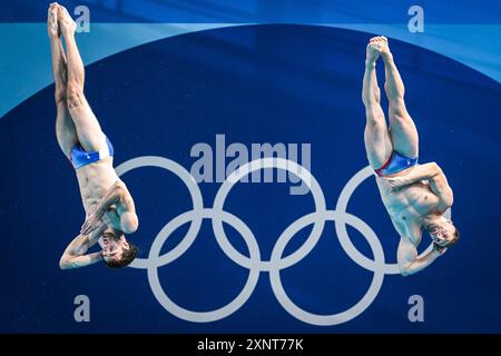
M 125 267 L 137 254 L 124 236 L 138 227 L 134 200 L 115 172 L 114 148 L 84 96 L 84 63 L 75 40 L 77 24 L 56 2 L 49 7 L 47 24 L 56 85 L 56 136 L 75 168 L 86 210 L 80 235 L 68 245 L 59 266 L 78 268 L 104 260 L 108 267 Z M 88 254 L 99 238 L 102 250 Z

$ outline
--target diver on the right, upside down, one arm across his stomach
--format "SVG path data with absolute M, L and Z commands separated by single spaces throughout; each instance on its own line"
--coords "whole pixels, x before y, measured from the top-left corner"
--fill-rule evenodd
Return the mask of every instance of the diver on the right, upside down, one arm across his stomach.
M 375 70 L 380 57 L 385 69 L 390 127 L 380 103 Z M 362 99 L 369 162 L 377 175 L 381 198 L 400 234 L 399 269 L 403 276 L 412 275 L 430 266 L 454 245 L 459 231 L 444 217 L 452 206 L 453 194 L 442 169 L 435 162 L 418 165 L 418 130 L 405 108 L 404 85 L 385 37 L 374 37 L 367 44 Z M 433 249 L 418 257 L 416 247 L 423 230 L 432 237 Z

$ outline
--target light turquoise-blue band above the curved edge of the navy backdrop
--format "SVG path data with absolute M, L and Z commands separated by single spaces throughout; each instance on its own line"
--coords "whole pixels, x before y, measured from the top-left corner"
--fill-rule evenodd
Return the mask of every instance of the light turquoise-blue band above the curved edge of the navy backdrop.
M 92 18 L 94 19 L 94 18 Z M 429 23 L 423 33 L 411 33 L 407 23 L 325 22 L 341 29 L 384 34 L 466 65 L 501 82 L 501 24 Z M 337 19 L 337 21 L 340 21 Z M 301 22 L 301 21 L 299 21 Z M 308 23 L 307 21 L 303 21 Z M 84 63 L 90 65 L 120 51 L 163 38 L 245 23 L 99 23 L 77 34 Z M 46 23 L 0 23 L 0 119 L 17 105 L 53 82 Z M 370 36 L 367 34 L 367 38 Z M 29 40 L 27 40 L 29 39 Z M 22 46 L 20 46 L 22 43 Z

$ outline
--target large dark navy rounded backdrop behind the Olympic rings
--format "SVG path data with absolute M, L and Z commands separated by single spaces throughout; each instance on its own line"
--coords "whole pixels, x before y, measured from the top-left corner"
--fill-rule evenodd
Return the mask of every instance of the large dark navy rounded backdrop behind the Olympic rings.
M 210 3 L 223 6 L 220 1 Z M 326 2 L 318 3 L 327 7 Z M 308 18 L 306 6 L 302 12 L 303 4 L 287 6 L 292 9 L 287 22 L 316 19 Z M 190 6 L 205 9 L 198 1 Z M 352 7 L 363 9 L 362 2 L 343 6 L 346 11 Z M 325 13 L 322 9 L 318 13 Z M 367 11 L 367 18 L 391 21 L 400 11 L 391 9 L 363 11 Z M 432 9 L 436 17 L 431 19 L 436 21 L 493 21 L 490 11 L 485 18 L 473 11 L 465 19 L 471 10 L 468 7 L 460 7 L 462 17 L 445 7 Z M 7 10 L 2 12 L 4 21 L 41 22 L 46 13 L 46 7 L 37 8 L 28 1 L 11 2 Z M 137 20 L 200 20 L 197 11 L 185 10 L 176 19 L 166 11 L 166 18 L 145 12 Z M 236 10 L 218 11 L 223 14 L 220 19 L 214 16 L 215 21 L 226 21 Z M 268 22 L 266 19 L 279 12 L 266 6 L 259 11 L 254 21 L 245 21 Z M 338 12 L 332 9 L 332 13 Z M 295 21 L 302 14 L 304 21 Z M 100 21 L 129 21 L 125 14 L 105 8 L 96 17 Z M 226 135 L 227 144 L 248 147 L 252 142 L 311 142 L 312 172 L 323 188 L 327 207 L 334 208 L 346 181 L 367 165 L 361 80 L 371 36 L 293 23 L 181 34 L 88 66 L 86 95 L 114 142 L 116 165 L 155 155 L 189 169 L 195 160 L 189 157 L 191 146 L 207 142 L 214 147 L 217 134 Z M 78 234 L 85 214 L 75 172 L 56 142 L 50 86 L 0 119 L 0 332 L 499 333 L 501 88 L 495 80 L 441 55 L 397 40 L 391 41 L 391 48 L 406 86 L 407 109 L 420 131 L 420 160 L 439 162 L 454 189 L 453 218 L 461 240 L 431 267 L 407 278 L 386 276 L 380 294 L 362 315 L 332 327 L 312 326 L 287 314 L 276 301 L 266 273 L 262 273 L 252 297 L 236 313 L 218 322 L 194 324 L 170 315 L 157 303 L 145 270 L 116 271 L 96 265 L 61 271 L 60 254 Z M 40 66 L 49 62 L 41 61 Z M 382 70 L 379 78 L 382 87 Z M 140 229 L 131 239 L 140 246 L 140 256 L 147 257 L 158 231 L 188 210 L 191 201 L 180 180 L 160 169 L 134 170 L 124 179 L 140 219 Z M 206 207 L 212 205 L 218 187 L 200 184 Z M 291 222 L 314 210 L 311 195 L 289 196 L 288 187 L 242 184 L 225 204 L 226 210 L 254 231 L 263 259 L 269 258 L 276 238 Z M 355 191 L 348 211 L 374 229 L 386 259 L 395 261 L 397 235 L 372 179 Z M 163 251 L 173 248 L 186 229 L 178 229 Z M 227 233 L 247 254 L 238 235 L 230 228 Z M 286 254 L 297 248 L 306 233 L 298 234 Z M 355 245 L 371 256 L 363 237 L 354 229 L 350 233 Z M 333 224 L 327 224 L 312 253 L 282 271 L 285 290 L 312 313 L 332 314 L 351 307 L 372 278 L 345 255 L 335 237 Z M 177 304 L 210 310 L 239 293 L 247 270 L 224 255 L 206 220 L 191 248 L 160 267 L 159 276 Z M 73 320 L 72 301 L 79 294 L 90 297 L 90 323 Z M 424 323 L 407 319 L 407 298 L 415 294 L 424 298 Z

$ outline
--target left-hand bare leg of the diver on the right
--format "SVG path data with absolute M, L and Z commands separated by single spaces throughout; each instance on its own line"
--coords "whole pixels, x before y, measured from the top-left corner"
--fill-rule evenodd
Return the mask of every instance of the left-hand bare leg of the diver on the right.
M 365 60 L 365 73 L 362 85 L 362 100 L 365 106 L 365 131 L 364 142 L 369 162 L 372 168 L 379 169 L 391 157 L 393 152 L 390 134 L 386 127 L 383 109 L 381 108 L 381 90 L 377 87 L 375 63 L 380 51 L 377 46 L 367 44 L 367 57 Z

